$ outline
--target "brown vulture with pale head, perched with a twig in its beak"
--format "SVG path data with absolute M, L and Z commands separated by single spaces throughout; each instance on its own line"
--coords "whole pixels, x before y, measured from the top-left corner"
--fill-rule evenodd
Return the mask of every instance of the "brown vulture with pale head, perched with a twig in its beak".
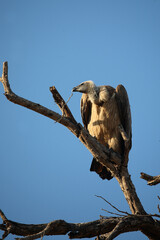
M 124 157 L 125 142 L 119 126 L 122 126 L 129 139 L 131 149 L 131 111 L 128 95 L 122 85 L 117 88 L 111 86 L 96 86 L 93 81 L 82 82 L 72 89 L 81 92 L 81 116 L 85 128 L 90 135 L 101 144 L 112 148 Z M 90 171 L 95 171 L 102 179 L 110 180 L 110 171 L 95 158 L 92 160 Z

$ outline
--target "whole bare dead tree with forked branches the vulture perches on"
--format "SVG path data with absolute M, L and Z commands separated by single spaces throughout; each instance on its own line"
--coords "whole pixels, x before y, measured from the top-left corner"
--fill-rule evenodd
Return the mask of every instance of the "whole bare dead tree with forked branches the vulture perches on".
M 93 157 L 111 171 L 113 177 L 118 181 L 131 210 L 131 213 L 120 211 L 106 199 L 103 199 L 117 211 L 116 217 L 101 217 L 96 221 L 86 223 L 67 223 L 64 220 L 56 220 L 38 225 L 11 221 L 0 210 L 0 216 L 3 220 L 3 224 L 0 224 L 0 229 L 4 231 L 2 239 L 8 234 L 21 236 L 17 239 L 25 240 L 37 239 L 44 235 L 68 234 L 70 239 L 96 237 L 97 240 L 112 240 L 121 233 L 132 231 L 141 231 L 152 240 L 160 239 L 160 221 L 157 220 L 157 218 L 160 218 L 160 215 L 147 214 L 144 210 L 129 175 L 128 164 L 122 165 L 121 157 L 117 153 L 97 142 L 80 123 L 76 122 L 67 104 L 54 86 L 50 88 L 50 91 L 61 109 L 62 115 L 40 104 L 17 96 L 10 88 L 7 62 L 3 63 L 3 73 L 0 81 L 3 84 L 5 96 L 9 101 L 40 113 L 68 128 L 85 145 Z M 121 131 L 123 132 L 123 129 Z M 125 136 L 125 132 L 122 135 Z M 152 177 L 141 173 L 141 177 L 147 180 L 150 185 L 160 182 L 160 176 Z

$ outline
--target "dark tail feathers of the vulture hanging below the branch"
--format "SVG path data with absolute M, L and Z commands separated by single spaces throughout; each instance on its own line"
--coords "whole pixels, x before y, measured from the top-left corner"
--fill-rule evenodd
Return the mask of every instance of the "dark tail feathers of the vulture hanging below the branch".
M 108 171 L 107 168 L 100 164 L 95 158 L 92 160 L 90 171 L 96 172 L 103 180 L 110 180 L 113 178 L 110 171 Z

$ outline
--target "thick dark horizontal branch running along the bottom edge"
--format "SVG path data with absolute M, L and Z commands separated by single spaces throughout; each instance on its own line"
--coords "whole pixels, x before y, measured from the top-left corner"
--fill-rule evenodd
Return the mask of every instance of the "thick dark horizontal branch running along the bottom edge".
M 151 221 L 148 216 L 124 216 L 113 217 L 108 219 L 99 219 L 93 222 L 86 223 L 67 223 L 64 220 L 55 220 L 45 224 L 22 224 L 8 220 L 2 211 L 0 216 L 3 219 L 3 224 L 0 229 L 5 233 L 4 239 L 8 234 L 23 236 L 16 238 L 17 240 L 33 240 L 42 236 L 48 235 L 66 235 L 70 239 L 75 238 L 91 238 L 98 235 L 107 234 L 108 239 L 114 239 L 121 233 L 130 231 L 142 231 L 144 227 L 152 227 L 157 229 L 160 234 L 159 224 L 156 221 Z M 158 238 L 153 238 L 157 239 Z

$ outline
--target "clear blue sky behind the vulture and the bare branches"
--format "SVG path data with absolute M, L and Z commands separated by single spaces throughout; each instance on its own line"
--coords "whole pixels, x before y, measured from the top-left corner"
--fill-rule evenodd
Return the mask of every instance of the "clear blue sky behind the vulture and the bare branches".
M 52 85 L 65 100 L 86 80 L 126 87 L 133 121 L 129 171 L 145 210 L 157 213 L 159 186 L 139 176 L 160 174 L 160 1 L 0 0 L 0 9 L 0 71 L 8 61 L 16 94 L 60 112 Z M 0 86 L 0 208 L 9 219 L 96 220 L 106 215 L 101 208 L 111 209 L 95 194 L 129 211 L 115 179 L 89 172 L 92 156 L 78 139 L 3 92 Z M 74 94 L 69 107 L 81 122 L 79 102 Z M 117 240 L 128 238 L 146 239 L 130 233 Z

